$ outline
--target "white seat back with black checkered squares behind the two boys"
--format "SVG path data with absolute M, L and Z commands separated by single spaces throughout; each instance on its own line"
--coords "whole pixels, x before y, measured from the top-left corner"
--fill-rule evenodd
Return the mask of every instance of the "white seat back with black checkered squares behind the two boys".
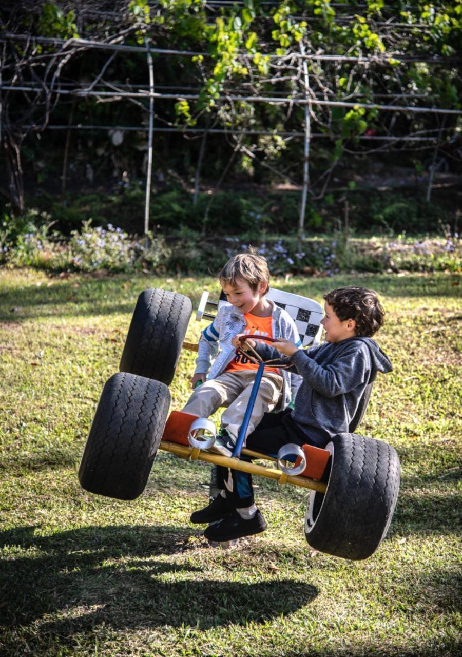
M 208 290 L 202 292 L 196 313 L 196 320 L 198 321 L 201 319 L 214 319 L 216 317 L 216 313 L 214 314 L 208 311 L 207 307 L 218 311 L 221 306 L 229 305 L 223 292 L 221 292 L 218 302 L 209 301 L 208 295 Z M 308 297 L 300 296 L 300 294 L 292 294 L 292 292 L 284 292 L 283 290 L 275 290 L 274 288 L 269 288 L 266 296 L 275 302 L 277 306 L 285 309 L 290 317 L 292 317 L 300 335 L 302 346 L 315 346 L 319 344 L 322 332 L 321 319 L 323 319 L 321 304 Z

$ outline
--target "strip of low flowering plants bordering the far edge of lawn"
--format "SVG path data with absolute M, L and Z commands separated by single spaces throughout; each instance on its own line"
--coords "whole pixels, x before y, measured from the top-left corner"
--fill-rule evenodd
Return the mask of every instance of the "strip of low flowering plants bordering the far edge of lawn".
M 228 258 L 247 250 L 248 244 L 265 256 L 273 274 L 333 275 L 339 271 L 461 271 L 461 243 L 457 232 L 445 228 L 445 239 L 410 239 L 405 233 L 394 240 L 364 240 L 341 232 L 335 239 L 267 235 L 202 237 L 187 226 L 172 230 L 169 237 L 131 237 L 120 227 L 93 227 L 83 221 L 70 238 L 51 232 L 50 215 L 30 211 L 23 217 L 4 215 L 0 225 L 0 262 L 51 271 L 129 272 L 133 269 L 162 273 L 215 275 Z M 37 225 L 34 224 L 34 221 Z M 264 233 L 263 233 L 264 234 Z M 262 231 L 260 232 L 262 235 Z

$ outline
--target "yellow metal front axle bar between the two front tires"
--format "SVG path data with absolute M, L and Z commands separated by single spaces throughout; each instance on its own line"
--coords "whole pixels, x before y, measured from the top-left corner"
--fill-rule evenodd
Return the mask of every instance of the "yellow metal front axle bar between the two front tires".
M 160 442 L 159 449 L 170 451 L 170 453 L 179 456 L 181 459 L 192 459 L 193 461 L 198 459 L 199 461 L 206 461 L 206 463 L 215 463 L 216 465 L 223 465 L 227 468 L 233 468 L 234 470 L 250 472 L 250 474 L 258 474 L 267 479 L 275 479 L 279 484 L 294 484 L 294 486 L 309 488 L 310 490 L 318 491 L 319 493 L 325 493 L 327 488 L 326 484 L 317 482 L 314 479 L 292 476 L 290 474 L 285 474 L 285 472 L 282 472 L 281 470 L 276 470 L 275 468 L 268 468 L 263 465 L 248 463 L 248 461 L 240 461 L 239 459 L 220 456 L 219 454 L 212 454 L 211 452 L 202 451 L 202 449 L 197 449 L 196 447 L 187 447 L 187 445 L 179 445 L 179 443 L 172 443 L 167 440 L 162 440 Z M 269 461 L 276 460 L 267 457 L 264 454 L 253 452 L 250 449 L 243 449 L 243 454 L 258 457 L 259 459 L 268 459 Z

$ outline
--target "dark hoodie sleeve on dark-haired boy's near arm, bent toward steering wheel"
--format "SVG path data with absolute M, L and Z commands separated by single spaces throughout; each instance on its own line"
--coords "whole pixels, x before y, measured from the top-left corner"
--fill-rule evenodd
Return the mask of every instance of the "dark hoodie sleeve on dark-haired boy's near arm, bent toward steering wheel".
M 336 397 L 369 380 L 371 365 L 358 342 L 346 345 L 334 363 L 319 365 L 309 353 L 297 351 L 290 360 L 304 380 L 324 397 Z

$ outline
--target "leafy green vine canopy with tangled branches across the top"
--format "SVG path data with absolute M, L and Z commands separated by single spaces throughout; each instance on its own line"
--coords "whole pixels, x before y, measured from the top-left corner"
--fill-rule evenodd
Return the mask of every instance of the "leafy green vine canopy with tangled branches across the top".
M 109 103 L 114 112 L 114 102 L 147 116 L 149 93 L 137 93 L 148 79 L 146 44 L 154 58 L 156 121 L 226 129 L 233 163 L 249 173 L 262 166 L 300 179 L 300 142 L 290 135 L 304 131 L 308 104 L 311 132 L 330 145 L 310 151 L 319 176 L 312 194 L 325 193 L 345 152 L 367 153 L 371 143 L 384 152 L 400 137 L 438 130 L 450 135 L 461 109 L 462 0 L 367 0 L 360 7 L 330 0 L 119 0 L 97 9 L 22 0 L 2 10 L 1 28 L 1 137 L 18 210 L 24 138 L 43 131 L 64 103 L 80 99 L 74 110 L 83 123 L 87 108 L 97 120 L 113 120 L 105 108 Z M 120 57 L 116 47 L 129 52 Z M 165 50 L 177 54 L 166 58 Z M 447 110 L 453 113 L 437 113 Z M 130 120 L 133 112 L 122 114 Z M 229 150 L 223 160 L 229 166 Z

